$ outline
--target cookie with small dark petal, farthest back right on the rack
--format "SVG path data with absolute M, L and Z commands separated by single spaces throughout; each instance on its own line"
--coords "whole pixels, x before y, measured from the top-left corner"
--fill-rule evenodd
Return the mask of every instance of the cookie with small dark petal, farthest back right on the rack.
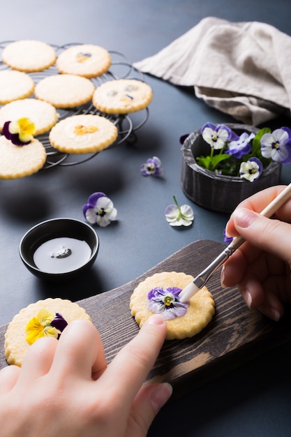
M 97 77 L 103 75 L 111 65 L 109 52 L 103 47 L 81 44 L 69 47 L 59 54 L 56 66 L 59 73 Z

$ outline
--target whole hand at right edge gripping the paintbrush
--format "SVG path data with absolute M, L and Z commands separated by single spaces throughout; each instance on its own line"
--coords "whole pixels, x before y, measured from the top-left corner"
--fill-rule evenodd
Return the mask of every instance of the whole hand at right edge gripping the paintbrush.
M 225 262 L 223 286 L 238 286 L 250 309 L 259 309 L 278 321 L 284 302 L 291 302 L 291 200 L 274 218 L 261 212 L 285 186 L 274 186 L 241 202 L 226 226 L 226 235 L 246 242 Z

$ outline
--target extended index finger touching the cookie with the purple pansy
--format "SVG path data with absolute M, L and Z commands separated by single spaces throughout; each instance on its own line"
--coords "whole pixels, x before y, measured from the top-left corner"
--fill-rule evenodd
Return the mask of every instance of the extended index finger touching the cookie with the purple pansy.
M 140 332 L 122 348 L 107 371 L 101 376 L 106 390 L 114 393 L 112 398 L 123 399 L 124 406 L 130 409 L 137 391 L 140 390 L 149 371 L 154 366 L 158 353 L 165 341 L 167 325 L 162 316 L 156 314 L 142 326 Z M 114 385 L 112 385 L 112 380 Z

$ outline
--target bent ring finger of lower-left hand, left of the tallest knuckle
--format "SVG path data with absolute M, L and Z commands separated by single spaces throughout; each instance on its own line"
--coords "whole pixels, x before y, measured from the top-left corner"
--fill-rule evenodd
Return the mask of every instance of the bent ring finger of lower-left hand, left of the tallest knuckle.
M 42 337 L 29 346 L 22 362 L 20 382 L 30 383 L 31 379 L 43 376 L 50 370 L 57 343 L 53 337 Z

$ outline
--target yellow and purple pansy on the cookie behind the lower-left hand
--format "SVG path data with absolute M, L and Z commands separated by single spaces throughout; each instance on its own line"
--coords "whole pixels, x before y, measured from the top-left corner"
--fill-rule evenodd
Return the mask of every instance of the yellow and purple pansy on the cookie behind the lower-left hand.
M 52 336 L 59 339 L 61 332 L 68 323 L 59 313 L 52 313 L 48 309 L 40 309 L 36 316 L 29 320 L 26 327 L 27 343 L 32 344 L 44 336 Z

